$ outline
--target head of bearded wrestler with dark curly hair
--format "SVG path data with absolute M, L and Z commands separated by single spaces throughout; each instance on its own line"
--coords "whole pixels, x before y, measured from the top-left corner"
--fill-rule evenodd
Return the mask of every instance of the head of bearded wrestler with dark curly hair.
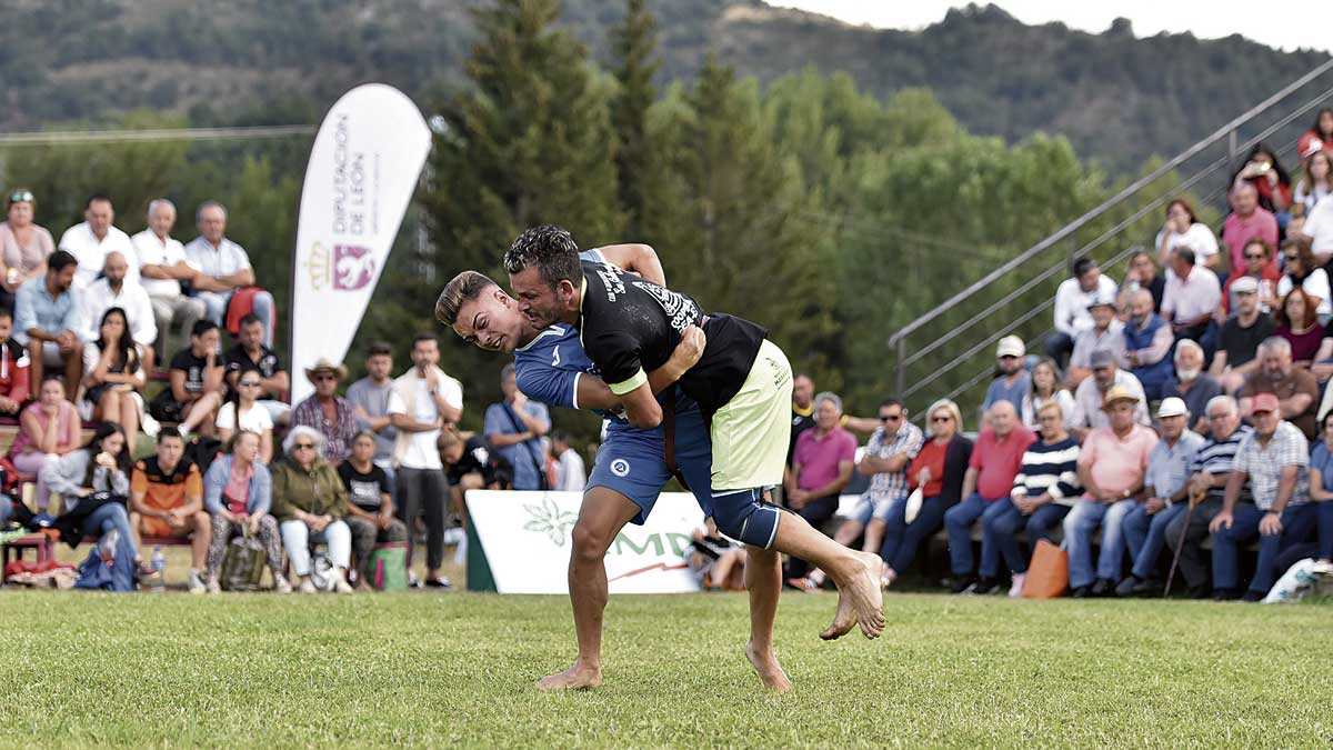
M 579 319 L 583 266 L 573 236 L 553 224 L 524 231 L 504 254 L 519 310 L 537 328 Z

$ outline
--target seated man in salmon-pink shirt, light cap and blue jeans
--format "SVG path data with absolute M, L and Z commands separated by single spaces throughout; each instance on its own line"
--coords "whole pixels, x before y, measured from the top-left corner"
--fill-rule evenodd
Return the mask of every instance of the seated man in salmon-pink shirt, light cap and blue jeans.
M 1140 398 L 1112 387 L 1102 402 L 1110 424 L 1088 434 L 1078 452 L 1082 499 L 1065 516 L 1069 589 L 1076 598 L 1104 597 L 1120 582 L 1125 546 L 1121 528 L 1137 504 L 1157 434 L 1134 422 Z M 1101 527 L 1101 554 L 1092 560 L 1092 534 Z

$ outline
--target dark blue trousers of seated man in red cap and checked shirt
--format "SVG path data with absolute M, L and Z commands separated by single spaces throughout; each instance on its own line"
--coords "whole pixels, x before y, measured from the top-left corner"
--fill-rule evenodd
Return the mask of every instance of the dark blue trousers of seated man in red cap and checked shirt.
M 1258 522 L 1265 511 L 1250 503 L 1236 506 L 1232 511 L 1232 527 L 1213 534 L 1213 589 L 1236 589 L 1240 586 L 1240 546 L 1258 536 L 1258 562 L 1254 565 L 1254 578 L 1249 590 L 1268 594 L 1277 581 L 1277 556 L 1282 550 L 1300 544 L 1314 534 L 1320 508 L 1312 503 L 1288 506 L 1282 511 L 1281 534 L 1260 534 Z

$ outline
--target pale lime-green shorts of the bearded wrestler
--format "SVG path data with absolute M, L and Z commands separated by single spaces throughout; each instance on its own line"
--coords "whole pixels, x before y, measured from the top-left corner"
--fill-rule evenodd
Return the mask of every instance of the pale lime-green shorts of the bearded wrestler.
M 782 483 L 792 442 L 792 366 L 765 339 L 745 384 L 713 415 L 713 494 Z

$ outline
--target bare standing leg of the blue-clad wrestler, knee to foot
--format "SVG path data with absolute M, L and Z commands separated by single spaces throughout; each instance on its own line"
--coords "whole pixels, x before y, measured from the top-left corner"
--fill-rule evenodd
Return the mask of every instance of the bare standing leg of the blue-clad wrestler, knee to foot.
M 603 558 L 616 534 L 639 515 L 639 506 L 607 487 L 584 494 L 569 554 L 569 603 L 575 611 L 579 658 L 575 666 L 537 681 L 540 690 L 579 690 L 601 685 L 601 617 L 607 609 Z

